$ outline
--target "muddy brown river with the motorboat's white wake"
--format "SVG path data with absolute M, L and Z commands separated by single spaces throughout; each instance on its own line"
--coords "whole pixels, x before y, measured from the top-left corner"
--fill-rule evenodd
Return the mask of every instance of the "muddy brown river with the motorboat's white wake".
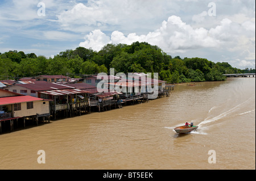
M 199 128 L 177 134 L 185 121 Z M 183 83 L 169 97 L 51 121 L 0 140 L 0 169 L 255 169 L 255 78 Z M 38 163 L 38 150 L 45 151 L 45 164 Z

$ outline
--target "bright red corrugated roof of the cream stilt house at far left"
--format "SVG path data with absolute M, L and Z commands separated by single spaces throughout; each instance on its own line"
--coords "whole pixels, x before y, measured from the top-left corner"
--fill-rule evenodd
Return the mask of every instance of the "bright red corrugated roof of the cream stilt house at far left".
M 8 104 L 16 104 L 16 103 L 24 103 L 24 102 L 33 102 L 33 101 L 39 101 L 44 100 L 40 98 L 35 98 L 29 95 L 24 96 L 12 96 L 12 97 L 5 97 L 0 98 L 0 105 L 8 105 Z

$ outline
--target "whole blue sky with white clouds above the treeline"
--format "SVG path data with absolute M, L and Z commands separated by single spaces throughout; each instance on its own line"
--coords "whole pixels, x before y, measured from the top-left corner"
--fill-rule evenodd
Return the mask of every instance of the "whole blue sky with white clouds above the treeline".
M 255 69 L 254 0 L 0 0 L 0 52 L 146 41 L 181 58 Z

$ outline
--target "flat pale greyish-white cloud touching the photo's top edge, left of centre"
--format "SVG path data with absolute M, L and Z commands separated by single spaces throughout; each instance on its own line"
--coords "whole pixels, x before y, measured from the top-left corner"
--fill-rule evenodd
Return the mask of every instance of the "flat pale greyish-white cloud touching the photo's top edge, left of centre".
M 113 31 L 113 28 L 118 28 L 126 31 L 137 29 L 138 32 L 154 30 L 166 14 L 177 9 L 176 2 L 164 0 L 89 0 L 86 4 L 77 3 L 72 9 L 61 11 L 57 19 L 61 28 L 68 31 Z

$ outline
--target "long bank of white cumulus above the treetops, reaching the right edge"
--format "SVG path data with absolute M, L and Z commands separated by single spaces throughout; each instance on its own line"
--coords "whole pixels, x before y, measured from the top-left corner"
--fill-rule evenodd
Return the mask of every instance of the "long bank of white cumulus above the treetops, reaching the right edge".
M 80 46 L 100 50 L 106 43 L 131 44 L 135 41 L 146 41 L 158 45 L 168 54 L 185 54 L 186 52 L 207 51 L 212 54 L 222 54 L 223 61 L 234 61 L 236 67 L 255 66 L 255 19 L 242 24 L 232 20 L 222 19 L 220 25 L 210 28 L 193 28 L 184 23 L 178 16 L 170 16 L 163 21 L 160 28 L 144 35 L 129 33 L 125 35 L 120 31 L 113 31 L 107 36 L 101 30 L 90 32 Z M 225 53 L 225 54 L 223 54 Z M 205 55 L 204 53 L 202 53 Z M 189 55 L 187 55 L 189 57 Z M 221 60 L 212 60 L 221 61 Z M 234 65 L 233 65 L 234 66 Z

